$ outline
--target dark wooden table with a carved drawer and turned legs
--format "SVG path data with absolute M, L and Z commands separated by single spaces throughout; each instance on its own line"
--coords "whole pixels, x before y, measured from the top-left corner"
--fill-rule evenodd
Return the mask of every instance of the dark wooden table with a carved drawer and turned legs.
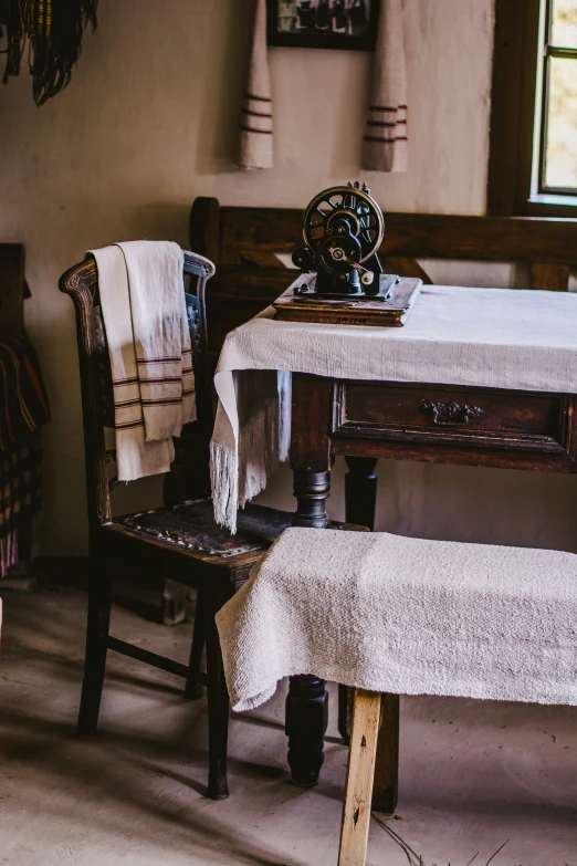
M 344 455 L 346 520 L 373 529 L 379 457 L 434 463 L 577 471 L 575 396 L 479 387 L 328 379 L 293 375 L 291 466 L 294 524 L 324 528 L 331 467 Z M 291 678 L 288 763 L 297 784 L 315 784 L 327 722 L 325 681 Z M 397 803 L 399 698 L 389 696 L 380 737 L 375 800 Z M 379 760 L 380 759 L 380 760 Z

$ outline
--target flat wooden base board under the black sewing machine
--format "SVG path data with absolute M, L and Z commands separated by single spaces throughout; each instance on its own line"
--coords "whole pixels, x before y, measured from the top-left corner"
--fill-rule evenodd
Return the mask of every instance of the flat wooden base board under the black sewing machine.
M 381 281 L 387 274 L 381 274 Z M 281 322 L 319 322 L 333 325 L 400 327 L 418 298 L 422 280 L 401 277 L 385 300 L 314 293 L 315 273 L 302 274 L 273 306 Z

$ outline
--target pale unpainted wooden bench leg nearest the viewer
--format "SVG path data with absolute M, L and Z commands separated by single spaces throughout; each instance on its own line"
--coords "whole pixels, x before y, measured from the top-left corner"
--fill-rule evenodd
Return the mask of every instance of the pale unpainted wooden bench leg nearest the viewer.
M 338 866 L 365 866 L 381 695 L 355 689 Z

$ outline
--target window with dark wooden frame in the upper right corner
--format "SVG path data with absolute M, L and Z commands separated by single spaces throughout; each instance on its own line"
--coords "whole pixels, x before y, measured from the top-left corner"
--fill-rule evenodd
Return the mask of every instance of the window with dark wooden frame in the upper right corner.
M 487 210 L 577 218 L 577 0 L 495 0 Z

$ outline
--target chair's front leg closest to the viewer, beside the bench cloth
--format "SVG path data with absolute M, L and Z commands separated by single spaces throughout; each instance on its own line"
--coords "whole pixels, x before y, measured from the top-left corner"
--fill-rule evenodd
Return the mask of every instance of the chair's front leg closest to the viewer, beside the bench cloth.
M 227 749 L 229 740 L 229 692 L 214 615 L 225 598 L 206 598 L 204 636 L 207 643 L 207 697 L 209 723 L 209 783 L 207 795 L 224 800 L 229 795 L 227 779 Z

